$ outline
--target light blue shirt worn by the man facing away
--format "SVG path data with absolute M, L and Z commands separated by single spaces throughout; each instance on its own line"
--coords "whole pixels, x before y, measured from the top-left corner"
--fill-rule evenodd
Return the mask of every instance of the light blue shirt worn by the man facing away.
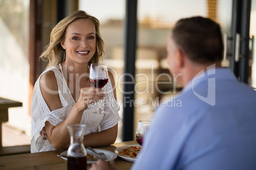
M 132 169 L 256 169 L 256 91 L 209 69 L 157 108 Z

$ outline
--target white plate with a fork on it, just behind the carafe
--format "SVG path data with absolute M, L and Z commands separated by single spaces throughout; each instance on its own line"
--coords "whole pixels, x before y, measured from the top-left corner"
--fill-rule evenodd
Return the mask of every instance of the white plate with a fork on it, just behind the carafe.
M 91 150 L 89 150 L 89 149 L 87 149 L 87 148 L 86 148 L 85 150 L 86 150 L 87 154 L 96 155 L 96 154 L 94 154 L 94 152 L 92 152 Z M 94 150 L 95 150 L 96 152 L 103 152 L 103 153 L 106 155 L 106 158 L 107 158 L 106 161 L 114 160 L 114 159 L 117 158 L 117 154 L 115 154 L 115 153 L 113 153 L 113 152 L 111 152 L 111 151 L 109 151 L 109 150 L 96 149 L 96 148 L 94 148 Z M 60 157 L 61 157 L 62 159 L 68 160 L 66 157 L 62 157 L 62 156 L 66 156 L 67 153 L 68 153 L 68 151 L 62 152 L 62 153 L 60 154 Z M 92 164 L 92 163 L 95 163 L 95 162 L 97 162 L 97 160 L 96 160 L 96 161 L 95 161 L 95 160 L 90 160 L 90 161 L 87 161 L 87 164 Z

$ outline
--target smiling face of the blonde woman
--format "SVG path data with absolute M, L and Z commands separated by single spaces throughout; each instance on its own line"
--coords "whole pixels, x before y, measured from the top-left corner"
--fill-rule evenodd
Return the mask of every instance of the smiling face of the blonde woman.
M 66 49 L 66 62 L 87 64 L 96 51 L 94 23 L 89 19 L 70 23 L 61 46 Z

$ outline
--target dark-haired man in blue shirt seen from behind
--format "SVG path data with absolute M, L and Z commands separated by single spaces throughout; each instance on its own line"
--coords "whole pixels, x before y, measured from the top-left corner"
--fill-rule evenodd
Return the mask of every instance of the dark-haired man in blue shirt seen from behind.
M 256 169 L 256 91 L 221 67 L 220 25 L 184 18 L 167 39 L 167 63 L 183 86 L 161 105 L 132 169 Z M 115 169 L 99 160 L 92 169 Z

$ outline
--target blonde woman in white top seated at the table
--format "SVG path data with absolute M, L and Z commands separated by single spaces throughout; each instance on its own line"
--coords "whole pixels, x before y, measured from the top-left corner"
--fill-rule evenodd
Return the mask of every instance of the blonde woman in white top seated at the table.
M 120 110 L 113 75 L 104 88 L 93 88 L 90 63 L 104 56 L 99 21 L 85 11 L 75 11 L 52 30 L 50 43 L 40 56 L 47 69 L 34 85 L 31 103 L 31 152 L 61 150 L 69 146 L 69 124 L 85 124 L 85 146 L 111 145 L 117 138 Z M 84 99 L 87 100 L 84 100 Z M 105 98 L 106 114 L 95 114 L 97 101 Z

